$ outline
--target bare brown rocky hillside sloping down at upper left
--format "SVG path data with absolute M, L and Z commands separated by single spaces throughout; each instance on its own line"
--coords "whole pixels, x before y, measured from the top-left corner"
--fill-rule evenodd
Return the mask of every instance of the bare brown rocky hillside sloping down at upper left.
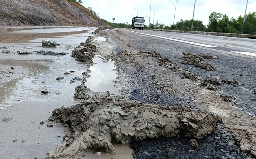
M 85 7 L 68 0 L 0 0 L 0 25 L 100 27 Z

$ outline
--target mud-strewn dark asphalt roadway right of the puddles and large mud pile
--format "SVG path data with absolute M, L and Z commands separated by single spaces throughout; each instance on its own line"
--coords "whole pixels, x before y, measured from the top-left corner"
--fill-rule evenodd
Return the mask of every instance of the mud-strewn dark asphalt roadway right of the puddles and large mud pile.
M 124 96 L 204 110 L 223 120 L 197 141 L 197 149 L 186 138 L 150 139 L 132 143 L 135 158 L 255 158 L 255 41 L 124 29 L 108 36 L 116 44 L 116 85 Z M 215 69 L 207 70 L 209 65 Z

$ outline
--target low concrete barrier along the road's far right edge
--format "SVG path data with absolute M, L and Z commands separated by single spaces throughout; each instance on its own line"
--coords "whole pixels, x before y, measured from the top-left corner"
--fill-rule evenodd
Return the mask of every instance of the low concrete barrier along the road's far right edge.
M 256 39 L 256 35 L 249 35 L 249 34 L 234 34 L 234 33 L 223 33 L 223 32 L 203 32 L 203 31 L 184 31 L 184 30 L 163 30 L 163 29 L 145 29 L 145 30 Z

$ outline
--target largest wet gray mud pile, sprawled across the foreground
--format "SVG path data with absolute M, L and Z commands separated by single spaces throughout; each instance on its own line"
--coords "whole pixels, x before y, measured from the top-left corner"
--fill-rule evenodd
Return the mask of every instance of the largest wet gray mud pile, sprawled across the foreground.
M 83 84 L 82 84 L 83 85 Z M 71 127 L 71 133 L 55 150 L 52 158 L 74 157 L 89 149 L 103 148 L 115 155 L 111 142 L 129 144 L 153 137 L 173 137 L 184 134 L 202 139 L 211 134 L 222 120 L 206 112 L 171 105 L 143 104 L 109 92 L 94 93 L 83 85 L 76 89 L 85 99 L 82 104 L 56 108 L 50 121 Z

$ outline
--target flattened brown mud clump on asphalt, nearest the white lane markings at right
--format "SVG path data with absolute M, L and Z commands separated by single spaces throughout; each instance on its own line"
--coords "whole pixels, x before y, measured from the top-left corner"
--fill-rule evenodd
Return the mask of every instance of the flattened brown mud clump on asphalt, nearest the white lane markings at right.
M 183 61 L 182 64 L 185 65 L 194 65 L 196 67 L 200 67 L 202 69 L 205 69 L 207 71 L 213 71 L 216 70 L 216 68 L 209 64 L 209 63 L 202 63 L 204 59 L 218 59 L 218 56 L 214 55 L 193 55 L 191 53 L 182 53 L 184 56 L 181 58 Z

